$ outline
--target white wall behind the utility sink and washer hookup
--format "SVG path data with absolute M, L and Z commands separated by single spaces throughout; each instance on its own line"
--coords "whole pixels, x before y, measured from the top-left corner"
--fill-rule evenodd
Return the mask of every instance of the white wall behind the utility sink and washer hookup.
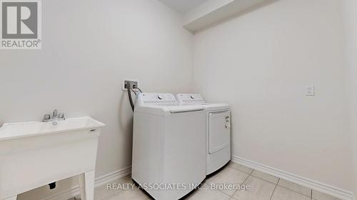
M 42 4 L 42 50 L 0 51 L 0 125 L 41 120 L 54 108 L 66 117 L 90 115 L 107 125 L 96 177 L 130 166 L 132 112 L 121 83 L 138 78 L 145 92 L 189 91 L 193 36 L 156 0 Z M 39 200 L 71 182 L 19 199 Z

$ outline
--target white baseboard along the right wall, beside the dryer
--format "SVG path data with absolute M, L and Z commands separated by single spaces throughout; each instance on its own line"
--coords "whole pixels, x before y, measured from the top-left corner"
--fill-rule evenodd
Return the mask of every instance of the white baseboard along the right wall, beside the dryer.
M 301 186 L 306 186 L 308 188 L 314 189 L 316 191 L 323 192 L 324 194 L 329 194 L 331 196 L 335 196 L 338 199 L 342 200 L 356 200 L 353 192 L 346 191 L 344 189 L 339 189 L 335 186 L 331 186 L 328 184 L 323 184 L 319 181 L 314 181 L 305 177 L 298 176 L 296 174 L 291 174 L 289 172 L 285 172 L 281 169 L 276 169 L 274 167 L 266 166 L 265 164 L 260 164 L 258 162 L 253 162 L 248 159 L 243 159 L 241 157 L 237 157 L 232 155 L 232 162 L 236 162 L 238 164 L 244 165 L 246 167 L 251 167 L 252 169 L 256 169 L 261 172 L 265 172 L 266 174 L 271 174 L 275 177 L 279 177 L 281 179 L 285 179 L 286 181 L 291 181 L 293 183 L 299 184 Z

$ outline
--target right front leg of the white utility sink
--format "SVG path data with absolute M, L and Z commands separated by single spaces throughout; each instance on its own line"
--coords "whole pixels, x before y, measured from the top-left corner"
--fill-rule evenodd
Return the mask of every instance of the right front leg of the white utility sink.
M 93 170 L 79 175 L 79 190 L 83 200 L 94 200 L 94 172 Z

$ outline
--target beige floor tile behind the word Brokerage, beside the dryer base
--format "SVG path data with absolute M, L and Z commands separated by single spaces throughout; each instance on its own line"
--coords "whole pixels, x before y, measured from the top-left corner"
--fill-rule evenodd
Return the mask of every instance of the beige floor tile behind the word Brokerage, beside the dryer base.
M 228 167 L 224 169 L 218 177 L 213 179 L 209 184 L 213 184 L 216 187 L 219 186 L 224 186 L 224 185 L 229 185 L 229 184 L 242 184 L 243 181 L 246 180 L 246 178 L 249 175 L 246 173 L 243 173 L 237 169 L 233 169 L 231 167 Z M 236 189 L 221 189 L 224 193 L 228 194 L 229 196 L 233 195 Z

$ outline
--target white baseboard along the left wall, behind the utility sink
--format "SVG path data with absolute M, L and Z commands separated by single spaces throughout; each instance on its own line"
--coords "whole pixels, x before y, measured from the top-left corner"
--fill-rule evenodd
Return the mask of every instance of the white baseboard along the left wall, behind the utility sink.
M 102 186 L 106 183 L 114 181 L 115 179 L 120 179 L 125 177 L 126 175 L 131 174 L 131 166 L 125 167 L 123 169 L 119 169 L 115 172 L 111 172 L 109 174 L 105 174 L 104 176 L 98 177 L 95 179 L 94 187 Z M 65 191 L 61 191 L 57 194 L 48 196 L 41 200 L 64 200 L 64 199 L 71 199 L 74 196 L 79 196 L 79 186 L 74 186 L 71 189 L 67 189 Z

